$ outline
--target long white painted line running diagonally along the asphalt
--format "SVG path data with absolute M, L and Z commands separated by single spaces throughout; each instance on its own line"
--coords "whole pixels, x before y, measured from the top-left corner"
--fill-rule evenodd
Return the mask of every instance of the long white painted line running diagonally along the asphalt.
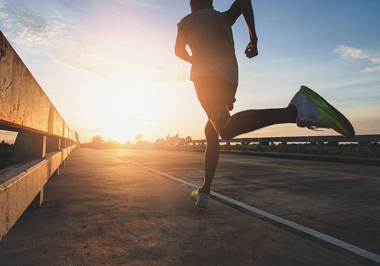
M 168 178 L 173 179 L 173 180 L 175 180 L 175 181 L 178 181 L 178 182 L 180 182 L 180 183 L 182 183 L 182 184 L 186 184 L 186 185 L 191 186 L 191 187 L 194 187 L 194 188 L 199 188 L 199 186 L 197 186 L 197 185 L 195 185 L 195 184 L 192 184 L 192 183 L 186 182 L 186 181 L 184 181 L 184 180 L 182 180 L 182 179 L 179 179 L 179 178 L 177 178 L 177 177 L 174 177 L 174 176 L 172 176 L 172 175 L 165 174 L 165 173 L 163 173 L 163 172 L 160 172 L 160 171 L 154 170 L 154 169 L 152 169 L 152 168 L 146 167 L 146 166 L 144 166 L 144 165 L 142 165 L 142 164 L 135 163 L 135 162 L 133 162 L 133 161 L 130 161 L 130 160 L 127 160 L 127 159 L 124 159 L 124 158 L 121 158 L 121 157 L 118 157 L 118 156 L 115 156 L 115 155 L 112 155 L 112 154 L 109 154 L 109 153 L 107 153 L 107 154 L 110 155 L 110 156 L 112 156 L 112 157 L 118 158 L 118 159 L 120 159 L 120 160 L 126 161 L 126 162 L 128 162 L 128 163 L 131 163 L 131 164 L 137 165 L 137 166 L 139 166 L 139 167 L 142 167 L 142 168 L 144 168 L 144 169 L 146 169 L 146 170 L 149 170 L 149 171 L 151 171 L 151 172 L 154 172 L 154 173 L 156 173 L 156 174 L 159 174 L 159 175 L 162 175 L 162 176 L 168 177 Z M 271 214 L 271 213 L 269 213 L 269 212 L 266 212 L 266 211 L 263 211 L 263 210 L 257 209 L 257 208 L 255 208 L 255 207 L 252 207 L 252 206 L 250 206 L 250 205 L 247 205 L 247 204 L 245 204 L 245 203 L 243 203 L 243 202 L 237 201 L 237 200 L 232 199 L 232 198 L 230 198 L 230 197 L 224 196 L 224 195 L 222 195 L 222 194 L 216 193 L 216 192 L 214 192 L 214 191 L 211 191 L 211 194 L 214 195 L 214 196 L 216 196 L 216 197 L 218 197 L 218 198 L 221 198 L 221 199 L 223 199 L 223 200 L 226 200 L 226 201 L 228 201 L 228 202 L 230 202 L 230 203 L 232 203 L 232 204 L 235 204 L 235 205 L 237 205 L 237 206 L 240 206 L 240 207 L 242 207 L 242 208 L 245 208 L 245 209 L 247 209 L 247 210 L 250 210 L 250 211 L 252 211 L 252 212 L 255 212 L 255 213 L 257 213 L 257 214 L 260 214 L 260 215 L 262 215 L 262 216 L 264 216 L 264 217 L 267 217 L 267 218 L 269 218 L 269 219 L 271 219 L 271 220 L 274 220 L 274 221 L 280 222 L 280 223 L 285 224 L 285 225 L 287 225 L 287 226 L 290 226 L 290 227 L 292 227 L 292 228 L 294 228 L 294 229 L 297 229 L 297 230 L 302 231 L 302 232 L 304 232 L 304 233 L 310 234 L 310 235 L 315 236 L 315 237 L 317 237 L 317 238 L 319 238 L 319 239 L 322 239 L 322 240 L 324 240 L 324 241 L 326 241 L 326 242 L 329 242 L 329 243 L 334 244 L 334 245 L 336 245 L 336 246 L 339 246 L 339 247 L 341 247 L 341 248 L 347 249 L 347 250 L 349 250 L 349 251 L 351 251 L 351 252 L 353 252 L 353 253 L 355 253 L 355 254 L 358 254 L 358 255 L 360 255 L 360 256 L 366 257 L 366 258 L 368 258 L 368 259 L 370 259 L 370 260 L 373 260 L 373 261 L 375 261 L 375 262 L 377 262 L 377 263 L 380 263 L 380 256 L 379 256 L 379 255 L 374 254 L 374 253 L 371 253 L 371 252 L 369 252 L 369 251 L 367 251 L 367 250 L 361 249 L 360 247 L 357 247 L 357 246 L 351 245 L 351 244 L 349 244 L 349 243 L 346 243 L 346 242 L 344 242 L 344 241 L 341 241 L 341 240 L 339 240 L 339 239 L 336 239 L 336 238 L 334 238 L 334 237 L 331 237 L 331 236 L 329 236 L 329 235 L 327 235 L 327 234 L 324 234 L 324 233 L 321 233 L 321 232 L 315 231 L 315 230 L 313 230 L 313 229 L 310 229 L 310 228 L 305 227 L 305 226 L 302 226 L 302 225 L 300 225 L 300 224 L 298 224 L 298 223 L 295 223 L 295 222 L 292 222 L 292 221 L 286 220 L 286 219 L 284 219 L 284 218 L 281 218 L 281 217 L 276 216 L 276 215 L 274 215 L 274 214 Z

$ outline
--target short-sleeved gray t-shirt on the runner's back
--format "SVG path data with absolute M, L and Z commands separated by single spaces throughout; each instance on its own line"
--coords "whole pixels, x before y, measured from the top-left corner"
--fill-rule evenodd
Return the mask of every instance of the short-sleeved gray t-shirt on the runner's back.
M 188 37 L 193 53 L 190 79 L 211 76 L 238 84 L 238 62 L 228 12 L 203 9 L 184 17 L 178 31 Z

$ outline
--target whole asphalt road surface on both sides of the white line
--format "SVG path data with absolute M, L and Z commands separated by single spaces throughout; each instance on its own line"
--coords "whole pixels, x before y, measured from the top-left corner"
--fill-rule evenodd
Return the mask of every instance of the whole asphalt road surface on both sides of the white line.
M 202 156 L 76 150 L 0 242 L 0 264 L 375 264 L 223 200 L 198 208 L 188 185 L 126 161 L 200 184 Z M 379 168 L 221 155 L 213 190 L 380 253 Z

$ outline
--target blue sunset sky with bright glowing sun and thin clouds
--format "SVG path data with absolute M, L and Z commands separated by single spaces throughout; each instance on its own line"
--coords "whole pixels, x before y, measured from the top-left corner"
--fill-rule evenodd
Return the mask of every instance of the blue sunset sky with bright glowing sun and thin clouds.
M 216 10 L 233 1 L 214 0 Z M 330 101 L 357 134 L 380 134 L 380 1 L 254 0 L 259 56 L 247 59 L 244 18 L 232 112 L 286 107 L 301 85 Z M 81 142 L 179 133 L 204 139 L 206 113 L 174 56 L 188 0 L 0 0 L 0 30 Z M 292 124 L 243 137 L 335 135 Z M 14 133 L 0 131 L 0 140 Z

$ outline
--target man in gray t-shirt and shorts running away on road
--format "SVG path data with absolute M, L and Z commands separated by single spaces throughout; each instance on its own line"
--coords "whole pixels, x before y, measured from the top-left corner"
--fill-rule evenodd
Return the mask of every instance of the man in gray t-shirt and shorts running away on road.
M 296 123 L 312 130 L 331 128 L 348 138 L 355 135 L 347 118 L 305 86 L 301 86 L 286 108 L 247 110 L 231 116 L 238 87 L 238 63 L 231 27 L 242 14 L 251 40 L 245 54 L 248 58 L 258 55 L 251 0 L 236 0 L 226 12 L 214 10 L 213 0 L 191 0 L 190 6 L 192 14 L 178 23 L 174 50 L 177 57 L 192 64 L 190 79 L 209 118 L 205 127 L 205 179 L 203 185 L 191 193 L 197 206 L 206 208 L 209 201 L 219 160 L 219 136 L 230 140 L 283 123 Z M 186 45 L 190 47 L 192 56 L 187 53 Z

